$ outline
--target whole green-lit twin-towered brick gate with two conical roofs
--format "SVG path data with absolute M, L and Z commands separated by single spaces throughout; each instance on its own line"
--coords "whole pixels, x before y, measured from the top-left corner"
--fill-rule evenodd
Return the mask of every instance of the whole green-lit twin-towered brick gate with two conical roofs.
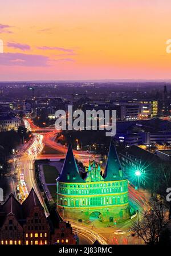
M 57 179 L 57 208 L 60 215 L 72 220 L 118 222 L 129 215 L 128 180 L 121 169 L 116 148 L 111 143 L 102 175 L 100 165 L 89 163 L 86 177 L 76 165 L 71 144 L 62 172 Z

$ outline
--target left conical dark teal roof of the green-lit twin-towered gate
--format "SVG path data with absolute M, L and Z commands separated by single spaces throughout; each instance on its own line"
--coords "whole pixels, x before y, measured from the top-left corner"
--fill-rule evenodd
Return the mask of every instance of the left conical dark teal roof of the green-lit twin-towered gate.
M 71 143 L 69 144 L 66 159 L 64 160 L 63 168 L 59 177 L 57 178 L 57 181 L 72 183 L 86 182 L 80 176 L 79 169 L 76 165 L 75 157 L 72 151 Z

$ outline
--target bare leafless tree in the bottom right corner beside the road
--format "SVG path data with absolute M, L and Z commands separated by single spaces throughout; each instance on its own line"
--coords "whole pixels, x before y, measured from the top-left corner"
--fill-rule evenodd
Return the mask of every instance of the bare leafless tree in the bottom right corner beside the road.
M 153 245 L 158 242 L 162 226 L 166 223 L 166 210 L 164 198 L 153 197 L 150 202 L 150 210 L 144 210 L 137 221 L 132 225 L 132 230 L 144 240 L 146 244 Z

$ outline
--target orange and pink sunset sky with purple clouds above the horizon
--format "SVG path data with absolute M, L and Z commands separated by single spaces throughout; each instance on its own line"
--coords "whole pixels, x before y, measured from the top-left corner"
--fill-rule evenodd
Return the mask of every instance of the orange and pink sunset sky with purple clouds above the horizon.
M 171 79 L 170 0 L 0 2 L 0 80 Z

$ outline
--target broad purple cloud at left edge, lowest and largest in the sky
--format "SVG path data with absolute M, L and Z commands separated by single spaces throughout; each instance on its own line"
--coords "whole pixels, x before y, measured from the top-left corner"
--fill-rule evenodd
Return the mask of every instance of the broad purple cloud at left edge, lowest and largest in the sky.
M 3 53 L 0 54 L 0 65 L 2 66 L 27 66 L 27 67 L 45 67 L 49 66 L 50 59 L 44 55 L 21 54 L 21 53 Z

